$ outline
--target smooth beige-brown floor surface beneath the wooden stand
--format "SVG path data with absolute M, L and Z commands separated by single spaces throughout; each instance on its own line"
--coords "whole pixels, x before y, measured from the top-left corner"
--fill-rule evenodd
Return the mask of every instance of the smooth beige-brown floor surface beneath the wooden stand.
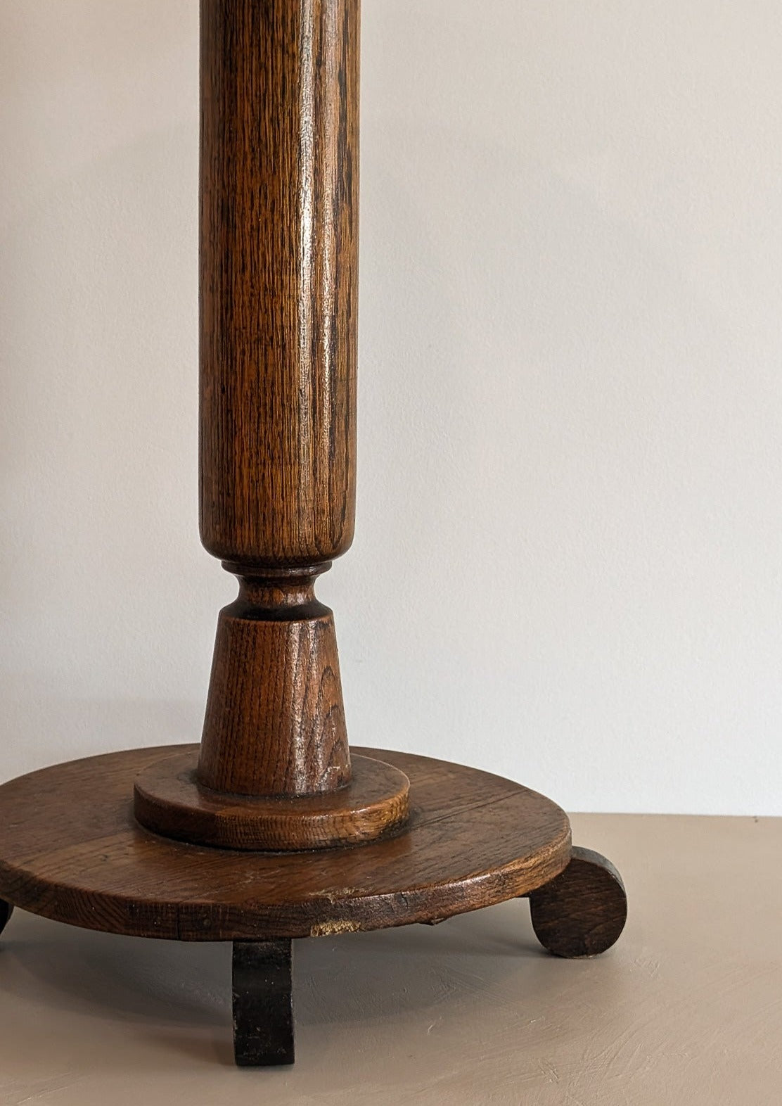
M 231 1062 L 230 947 L 15 911 L 0 938 L 2 1106 L 774 1106 L 782 820 L 576 815 L 629 919 L 549 957 L 525 901 L 298 941 L 296 1064 Z

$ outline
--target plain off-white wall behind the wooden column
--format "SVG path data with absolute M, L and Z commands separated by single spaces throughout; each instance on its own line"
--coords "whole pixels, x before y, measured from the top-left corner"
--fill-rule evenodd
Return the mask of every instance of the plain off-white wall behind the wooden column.
M 782 813 L 781 54 L 365 0 L 355 742 Z M 199 735 L 197 126 L 194 0 L 0 0 L 2 776 Z

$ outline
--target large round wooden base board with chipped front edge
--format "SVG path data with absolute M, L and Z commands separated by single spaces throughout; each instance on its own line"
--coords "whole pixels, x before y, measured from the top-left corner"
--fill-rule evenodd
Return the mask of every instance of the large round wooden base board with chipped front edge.
M 409 778 L 397 836 L 248 853 L 183 844 L 133 815 L 139 772 L 197 745 L 134 749 L 0 786 L 0 899 L 87 929 L 179 940 L 319 937 L 437 921 L 526 895 L 571 856 L 551 800 L 447 761 L 359 749 Z

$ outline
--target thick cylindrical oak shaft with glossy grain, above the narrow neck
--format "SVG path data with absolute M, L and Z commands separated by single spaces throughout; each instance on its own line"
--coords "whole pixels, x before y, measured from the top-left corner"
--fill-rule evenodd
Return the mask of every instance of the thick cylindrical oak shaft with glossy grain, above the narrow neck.
M 358 0 L 201 0 L 201 539 L 316 564 L 355 510 Z

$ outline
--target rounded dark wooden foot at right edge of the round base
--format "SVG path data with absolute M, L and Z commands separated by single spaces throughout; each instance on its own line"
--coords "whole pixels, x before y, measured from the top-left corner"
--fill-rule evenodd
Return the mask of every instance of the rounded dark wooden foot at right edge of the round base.
M 594 957 L 618 939 L 627 919 L 622 876 L 611 860 L 573 848 L 555 879 L 530 894 L 532 928 L 557 957 Z

